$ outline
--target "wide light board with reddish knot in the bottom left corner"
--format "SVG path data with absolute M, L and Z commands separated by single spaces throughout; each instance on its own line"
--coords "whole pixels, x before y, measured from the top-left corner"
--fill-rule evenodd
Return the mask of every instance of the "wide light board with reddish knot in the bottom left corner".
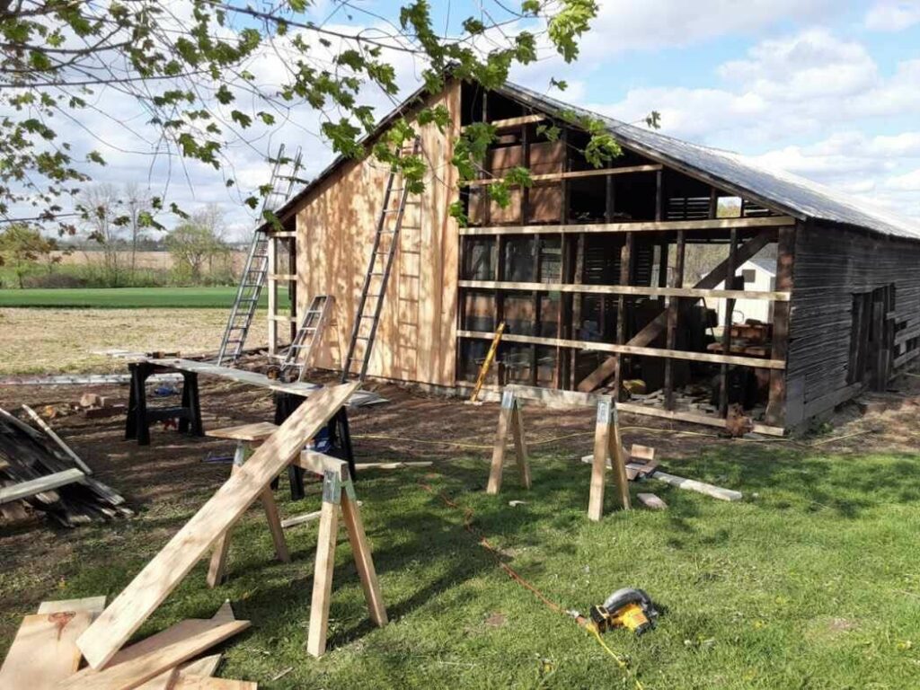
M 80 667 L 76 638 L 89 627 L 86 611 L 27 615 L 0 668 L 0 687 L 46 690 Z

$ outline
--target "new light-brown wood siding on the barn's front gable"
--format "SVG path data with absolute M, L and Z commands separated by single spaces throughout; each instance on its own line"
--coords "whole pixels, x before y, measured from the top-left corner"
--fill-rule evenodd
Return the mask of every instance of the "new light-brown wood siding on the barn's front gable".
M 426 190 L 410 197 L 419 203 L 406 209 L 368 374 L 454 385 L 459 243 L 448 207 L 456 198 L 450 160 L 459 133 L 459 86 L 449 86 L 429 105 L 439 103 L 450 111 L 454 131 L 442 133 L 434 125 L 419 130 L 429 164 Z M 347 162 L 297 213 L 298 313 L 316 294 L 335 298 L 317 366 L 340 369 L 348 351 L 386 177 L 373 158 Z

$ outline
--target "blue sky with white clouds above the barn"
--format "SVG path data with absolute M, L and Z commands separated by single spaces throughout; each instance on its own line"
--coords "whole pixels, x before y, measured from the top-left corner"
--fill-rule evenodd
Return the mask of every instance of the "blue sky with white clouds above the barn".
M 599 0 L 600 16 L 566 64 L 542 51 L 512 81 L 625 121 L 661 112 L 661 132 L 752 156 L 822 182 L 854 198 L 912 216 L 920 225 L 920 0 Z M 399 2 L 320 0 L 316 20 L 343 32 L 396 20 Z M 486 2 L 436 0 L 441 26 L 477 15 Z M 333 46 L 333 49 L 336 46 Z M 279 83 L 282 56 L 250 65 L 262 86 Z M 395 57 L 403 94 L 418 86 L 420 66 Z M 547 91 L 550 78 L 563 92 Z M 379 116 L 393 99 L 367 93 Z M 255 224 L 221 173 L 177 159 L 152 159 L 155 137 L 130 99 L 99 93 L 98 111 L 67 136 L 95 143 L 109 166 L 101 182 L 135 179 L 186 210 L 218 204 L 231 235 Z M 265 157 L 284 142 L 302 146 L 309 178 L 332 159 L 316 113 L 285 113 L 282 126 L 232 144 L 227 175 L 239 188 L 264 184 Z M 123 125 L 130 127 L 126 129 Z M 121 125 L 121 126 L 117 126 Z M 104 132 L 104 136 L 100 133 Z

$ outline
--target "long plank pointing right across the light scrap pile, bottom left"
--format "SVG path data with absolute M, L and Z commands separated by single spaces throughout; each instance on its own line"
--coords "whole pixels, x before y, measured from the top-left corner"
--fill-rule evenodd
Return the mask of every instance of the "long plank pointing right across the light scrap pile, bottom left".
M 249 621 L 221 623 L 190 618 L 115 654 L 101 671 L 86 668 L 59 690 L 132 690 L 249 627 Z

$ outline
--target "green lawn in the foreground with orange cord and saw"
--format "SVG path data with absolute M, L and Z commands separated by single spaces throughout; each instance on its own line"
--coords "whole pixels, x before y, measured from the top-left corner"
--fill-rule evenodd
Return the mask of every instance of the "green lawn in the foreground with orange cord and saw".
M 202 563 L 140 634 L 211 615 L 229 597 L 253 626 L 226 646 L 220 674 L 266 690 L 635 688 L 634 678 L 646 690 L 920 686 L 918 456 L 788 448 L 738 443 L 672 465 L 675 474 L 742 489 L 742 502 L 652 481 L 639 490 L 656 492 L 667 511 L 615 512 L 608 490 L 601 523 L 585 516 L 590 468 L 565 452 L 535 456 L 531 491 L 508 472 L 498 497 L 483 491 L 481 459 L 440 466 L 433 477 L 366 472 L 356 489 L 388 626 L 368 622 L 351 550 L 340 541 L 330 652 L 306 655 L 316 523 L 287 533 L 293 562 L 282 565 L 271 560 L 270 535 L 253 509 L 234 532 L 230 581 L 207 589 Z M 472 509 L 473 523 L 505 560 L 564 608 L 586 612 L 624 586 L 650 592 L 664 609 L 655 631 L 604 636 L 633 675 L 498 569 L 464 530 L 463 513 L 420 479 Z M 316 485 L 309 492 L 300 504 L 282 500 L 282 512 L 316 510 Z M 287 496 L 283 487 L 276 495 Z M 526 504 L 512 508 L 514 499 Z M 178 529 L 188 517 L 157 504 L 131 522 L 64 535 L 74 540 L 73 558 L 42 564 L 63 582 L 49 593 L 119 592 L 162 546 L 151 531 Z M 0 586 L 26 588 L 28 574 L 7 570 Z M 0 654 L 8 641 L 0 640 Z

